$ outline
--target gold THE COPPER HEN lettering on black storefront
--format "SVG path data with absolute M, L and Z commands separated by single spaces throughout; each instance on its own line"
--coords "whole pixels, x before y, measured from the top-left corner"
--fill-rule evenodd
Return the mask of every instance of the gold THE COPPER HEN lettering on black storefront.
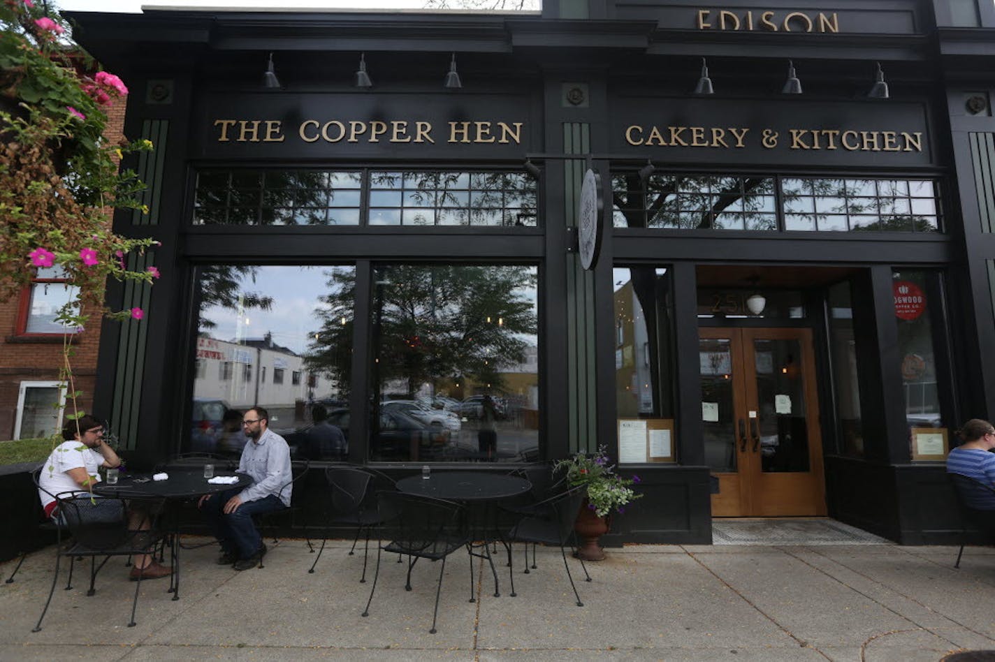
M 466 144 L 521 144 L 523 122 L 450 121 L 441 131 L 432 122 L 394 120 L 306 119 L 295 133 L 303 142 L 430 143 L 436 140 Z M 287 133 L 279 119 L 215 119 L 217 142 L 284 142 Z

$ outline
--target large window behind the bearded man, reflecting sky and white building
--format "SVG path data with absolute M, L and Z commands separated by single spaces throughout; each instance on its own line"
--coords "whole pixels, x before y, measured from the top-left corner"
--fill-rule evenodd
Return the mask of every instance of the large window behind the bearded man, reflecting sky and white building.
M 295 459 L 344 459 L 355 267 L 220 264 L 196 284 L 185 449 L 239 456 L 242 416 L 260 405 Z

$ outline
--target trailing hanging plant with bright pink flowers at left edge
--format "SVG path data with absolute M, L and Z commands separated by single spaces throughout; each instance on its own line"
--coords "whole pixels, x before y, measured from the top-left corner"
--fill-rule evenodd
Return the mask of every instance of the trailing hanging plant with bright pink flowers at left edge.
M 74 420 L 84 412 L 71 367 L 73 336 L 95 314 L 141 319 L 141 308 L 107 309 L 104 284 L 108 277 L 151 283 L 159 272 L 127 269 L 129 252 L 157 243 L 115 235 L 109 222 L 115 208 L 148 213 L 137 198 L 142 183 L 118 164 L 152 144 L 107 139 L 106 110 L 123 102 L 127 87 L 99 71 L 67 28 L 41 2 L 0 4 L 0 300 L 30 285 L 39 268 L 58 269 L 71 285 L 56 321 L 65 329 L 60 379 L 72 403 L 66 417 Z

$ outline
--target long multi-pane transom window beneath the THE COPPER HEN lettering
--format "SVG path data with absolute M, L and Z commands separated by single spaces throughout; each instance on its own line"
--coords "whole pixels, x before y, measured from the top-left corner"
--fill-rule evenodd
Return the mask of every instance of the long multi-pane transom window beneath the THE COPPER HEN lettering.
M 203 170 L 195 225 L 535 227 L 518 172 Z

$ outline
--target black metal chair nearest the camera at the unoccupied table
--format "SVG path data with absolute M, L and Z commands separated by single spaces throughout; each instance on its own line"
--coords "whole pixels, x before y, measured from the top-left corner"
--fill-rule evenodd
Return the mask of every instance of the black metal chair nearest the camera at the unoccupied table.
M 466 546 L 468 542 L 462 530 L 463 506 L 451 501 L 402 492 L 379 492 L 377 512 L 381 522 L 381 535 L 376 552 L 376 571 L 373 574 L 373 585 L 362 615 L 369 615 L 370 604 L 373 602 L 376 582 L 380 577 L 381 551 L 408 557 L 405 590 L 411 590 L 411 570 L 419 559 L 441 560 L 435 610 L 432 613 L 432 629 L 429 630 L 435 634 L 439 616 L 439 596 L 442 594 L 442 578 L 446 572 L 446 558 Z M 385 533 L 391 536 L 390 542 L 386 545 L 383 535 Z

